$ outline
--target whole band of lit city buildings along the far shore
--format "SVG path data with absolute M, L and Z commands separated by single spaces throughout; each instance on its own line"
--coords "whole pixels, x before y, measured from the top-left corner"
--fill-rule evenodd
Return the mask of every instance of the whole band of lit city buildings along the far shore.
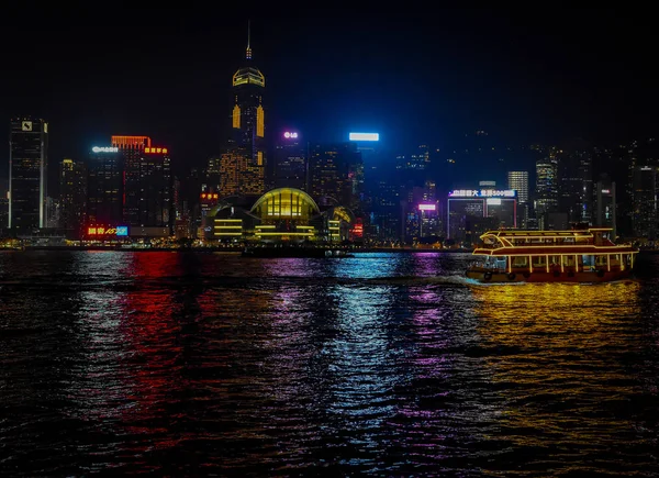
M 654 153 L 638 143 L 612 149 L 533 147 L 527 163 L 535 167 L 506 170 L 503 186 L 471 168 L 484 158 L 505 167 L 505 153 L 493 159 L 491 136 L 479 130 L 469 145 L 442 152 L 422 144 L 386 169 L 375 133 L 327 144 L 301 131 L 269 130 L 266 77 L 253 60 L 249 34 L 231 81 L 221 149 L 206 167 L 180 177 L 172 174 L 168 146 L 145 135 L 111 135 L 83 158 L 58 160 L 58 181 L 49 188 L 48 123 L 12 119 L 9 177 L 0 184 L 7 190 L 0 194 L 5 235 L 238 240 L 247 235 L 236 230 L 248 224 L 249 237 L 273 231 L 310 237 L 302 230 L 311 226 L 300 224 L 293 210 L 312 223 L 324 218 L 313 227 L 325 237 L 379 244 L 470 245 L 489 229 L 559 230 L 574 223 L 651 241 L 659 232 L 654 141 L 648 143 Z M 471 168 L 468 185 L 453 180 L 460 163 Z M 272 204 L 277 213 L 268 209 Z M 264 232 L 268 227 L 275 230 Z

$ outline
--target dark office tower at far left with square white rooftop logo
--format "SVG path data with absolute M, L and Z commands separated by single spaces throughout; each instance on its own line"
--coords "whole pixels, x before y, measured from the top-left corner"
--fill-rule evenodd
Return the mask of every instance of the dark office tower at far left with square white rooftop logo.
M 9 227 L 32 233 L 46 227 L 48 123 L 14 118 L 9 135 Z

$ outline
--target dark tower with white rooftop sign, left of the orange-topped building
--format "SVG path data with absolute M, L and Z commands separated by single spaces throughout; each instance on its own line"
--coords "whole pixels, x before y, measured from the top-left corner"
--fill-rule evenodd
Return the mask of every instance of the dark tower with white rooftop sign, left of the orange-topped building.
M 118 146 L 94 146 L 87 163 L 87 225 L 115 227 L 124 223 L 125 157 Z

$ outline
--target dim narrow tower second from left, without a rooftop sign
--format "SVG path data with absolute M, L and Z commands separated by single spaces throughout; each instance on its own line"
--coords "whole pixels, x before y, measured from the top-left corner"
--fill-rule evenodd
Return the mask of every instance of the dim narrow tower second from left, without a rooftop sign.
M 59 227 L 79 238 L 87 212 L 87 165 L 66 158 L 59 165 Z

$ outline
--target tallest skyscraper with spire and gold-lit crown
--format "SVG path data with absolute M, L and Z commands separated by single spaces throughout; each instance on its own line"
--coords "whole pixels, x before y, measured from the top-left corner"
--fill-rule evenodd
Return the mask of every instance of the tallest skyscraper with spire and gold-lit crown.
M 243 66 L 233 76 L 232 135 L 227 152 L 222 157 L 222 169 L 236 169 L 235 190 L 222 191 L 236 194 L 263 194 L 265 192 L 266 148 L 265 111 L 263 96 L 266 78 L 252 63 L 247 26 L 247 48 Z

